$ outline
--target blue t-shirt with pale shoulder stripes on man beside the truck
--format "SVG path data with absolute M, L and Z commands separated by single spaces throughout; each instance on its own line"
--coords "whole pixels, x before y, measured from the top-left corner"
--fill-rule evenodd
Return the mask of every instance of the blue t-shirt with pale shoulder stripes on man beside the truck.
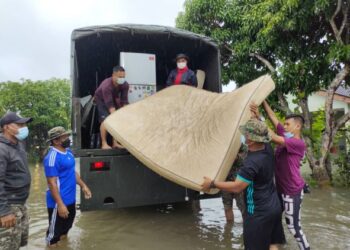
M 75 203 L 76 177 L 75 160 L 70 149 L 61 152 L 54 147 L 50 147 L 44 158 L 44 168 L 46 177 L 57 177 L 57 187 L 63 203 L 71 205 Z M 46 204 L 48 208 L 54 208 L 56 202 L 51 195 L 50 189 L 46 192 Z

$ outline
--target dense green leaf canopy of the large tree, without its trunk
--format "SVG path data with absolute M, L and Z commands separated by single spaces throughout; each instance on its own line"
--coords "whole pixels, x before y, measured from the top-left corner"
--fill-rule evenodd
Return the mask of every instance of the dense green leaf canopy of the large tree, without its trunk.
M 349 45 L 331 36 L 335 1 L 187 0 L 177 27 L 214 38 L 221 47 L 223 80 L 244 84 L 268 72 L 282 93 L 308 95 L 326 87 L 349 60 Z M 331 66 L 331 67 L 330 67 Z

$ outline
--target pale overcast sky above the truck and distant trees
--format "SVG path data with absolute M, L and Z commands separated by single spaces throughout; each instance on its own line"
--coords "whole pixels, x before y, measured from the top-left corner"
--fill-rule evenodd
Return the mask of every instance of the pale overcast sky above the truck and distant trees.
M 70 35 L 92 25 L 175 26 L 184 0 L 0 0 L 0 82 L 69 78 Z

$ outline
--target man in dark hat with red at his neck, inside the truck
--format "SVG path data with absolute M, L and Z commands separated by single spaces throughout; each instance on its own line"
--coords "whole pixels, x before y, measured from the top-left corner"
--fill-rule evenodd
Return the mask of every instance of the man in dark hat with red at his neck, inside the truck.
M 185 54 L 178 54 L 176 56 L 176 69 L 173 69 L 166 81 L 167 87 L 171 85 L 186 84 L 197 87 L 196 74 L 187 66 L 189 57 Z

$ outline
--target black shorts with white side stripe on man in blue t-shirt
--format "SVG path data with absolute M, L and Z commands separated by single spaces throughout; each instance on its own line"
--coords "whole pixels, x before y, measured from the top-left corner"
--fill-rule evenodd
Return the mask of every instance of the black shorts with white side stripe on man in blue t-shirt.
M 75 203 L 67 206 L 69 215 L 64 219 L 58 215 L 57 206 L 55 208 L 48 208 L 49 213 L 49 228 L 46 232 L 46 242 L 48 245 L 57 243 L 62 235 L 68 234 L 69 229 L 72 228 L 75 218 Z

